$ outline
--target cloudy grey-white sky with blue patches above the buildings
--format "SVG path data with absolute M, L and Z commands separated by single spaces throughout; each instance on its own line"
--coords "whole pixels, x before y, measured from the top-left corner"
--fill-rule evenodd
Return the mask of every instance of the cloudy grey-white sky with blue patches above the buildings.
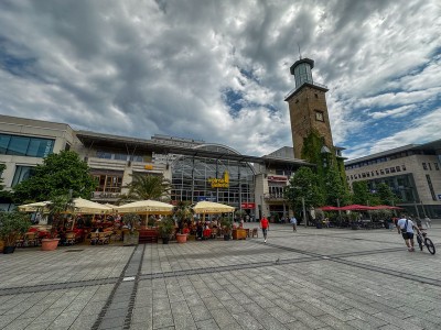
M 2 0 L 0 113 L 260 156 L 292 146 L 299 45 L 354 158 L 441 139 L 440 18 L 439 0 Z

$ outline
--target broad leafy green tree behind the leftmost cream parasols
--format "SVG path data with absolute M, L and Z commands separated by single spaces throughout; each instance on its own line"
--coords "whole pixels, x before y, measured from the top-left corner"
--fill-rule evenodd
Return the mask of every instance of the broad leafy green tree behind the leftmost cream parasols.
M 97 183 L 90 176 L 90 168 L 73 151 L 51 154 L 36 165 L 34 174 L 13 187 L 17 204 L 52 199 L 68 195 L 88 199 Z

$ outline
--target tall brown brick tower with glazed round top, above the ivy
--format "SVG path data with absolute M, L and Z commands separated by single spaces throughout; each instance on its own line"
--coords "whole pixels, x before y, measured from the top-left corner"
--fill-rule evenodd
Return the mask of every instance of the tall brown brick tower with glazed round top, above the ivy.
M 314 61 L 301 58 L 290 68 L 295 78 L 295 88 L 284 100 L 289 103 L 295 158 L 302 158 L 303 139 L 313 129 L 322 136 L 324 146 L 329 150 L 334 146 L 325 97 L 329 89 L 313 81 L 313 67 Z

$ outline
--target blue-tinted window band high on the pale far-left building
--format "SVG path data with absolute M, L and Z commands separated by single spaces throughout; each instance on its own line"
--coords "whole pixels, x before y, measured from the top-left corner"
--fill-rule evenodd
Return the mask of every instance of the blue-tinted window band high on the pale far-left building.
M 52 154 L 54 143 L 51 139 L 0 134 L 0 154 L 44 158 Z

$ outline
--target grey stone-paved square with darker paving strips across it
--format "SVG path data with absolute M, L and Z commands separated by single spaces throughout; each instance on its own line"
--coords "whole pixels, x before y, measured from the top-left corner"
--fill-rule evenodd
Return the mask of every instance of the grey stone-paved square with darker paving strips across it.
M 432 223 L 435 255 L 395 230 L 289 224 L 267 244 L 18 249 L 0 254 L 0 329 L 441 329 Z

